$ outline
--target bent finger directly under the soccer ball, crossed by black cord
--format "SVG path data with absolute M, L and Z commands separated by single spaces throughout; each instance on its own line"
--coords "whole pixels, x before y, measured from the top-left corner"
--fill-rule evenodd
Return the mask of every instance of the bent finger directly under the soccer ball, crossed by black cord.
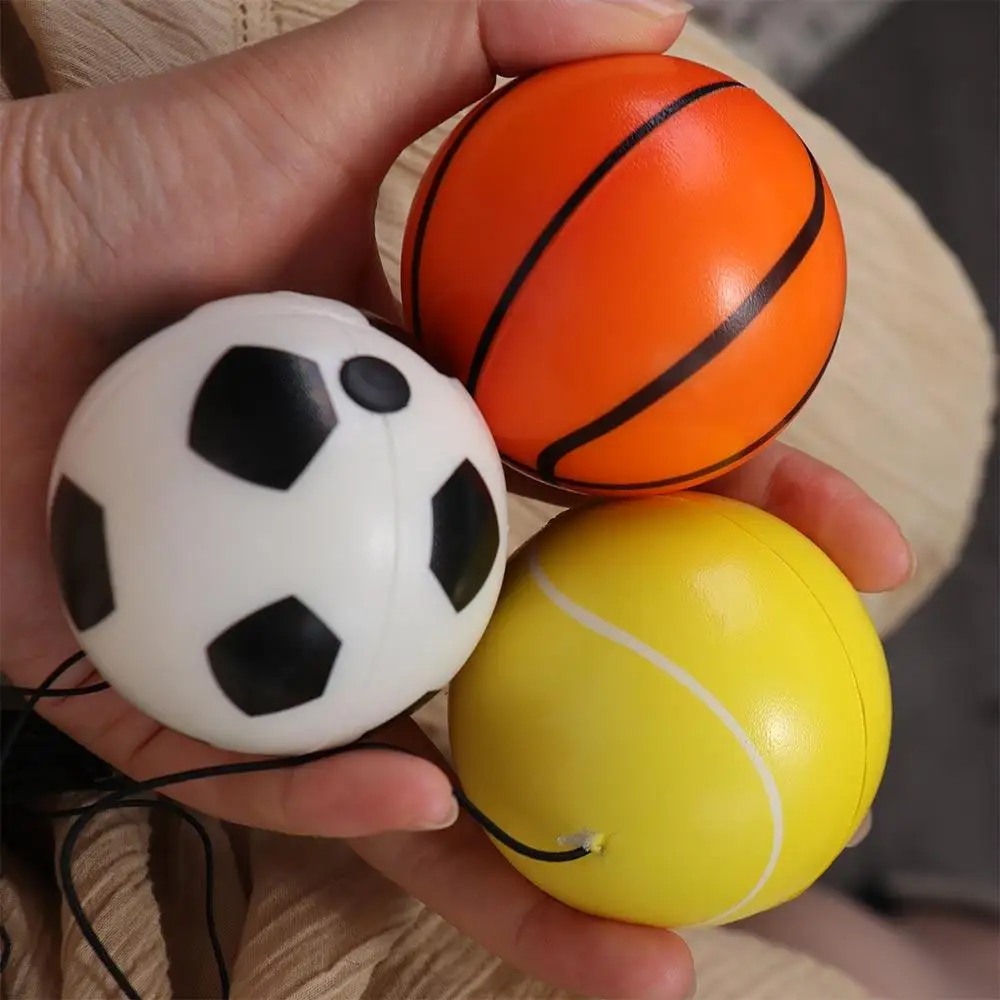
M 137 781 L 253 760 L 165 729 L 114 691 L 88 695 L 85 701 L 58 699 L 39 706 L 39 712 Z M 416 725 L 394 723 L 379 734 L 379 741 L 395 746 L 408 729 Z M 308 836 L 440 829 L 457 817 L 451 781 L 439 767 L 383 750 L 350 750 L 312 764 L 205 778 L 163 792 L 220 819 Z

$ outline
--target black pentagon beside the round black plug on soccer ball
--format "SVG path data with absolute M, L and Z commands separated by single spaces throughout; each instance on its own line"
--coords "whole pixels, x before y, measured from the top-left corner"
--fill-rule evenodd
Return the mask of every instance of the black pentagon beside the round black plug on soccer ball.
M 198 390 L 188 445 L 238 479 L 287 490 L 336 426 L 315 361 L 272 347 L 233 347 Z

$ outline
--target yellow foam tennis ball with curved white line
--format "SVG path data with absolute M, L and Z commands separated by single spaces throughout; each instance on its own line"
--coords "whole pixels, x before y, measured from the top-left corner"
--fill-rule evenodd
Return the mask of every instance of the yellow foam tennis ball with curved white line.
M 769 514 L 688 493 L 587 507 L 511 562 L 451 688 L 465 792 L 563 864 L 578 909 L 723 924 L 808 888 L 882 778 L 882 645 L 850 583 Z

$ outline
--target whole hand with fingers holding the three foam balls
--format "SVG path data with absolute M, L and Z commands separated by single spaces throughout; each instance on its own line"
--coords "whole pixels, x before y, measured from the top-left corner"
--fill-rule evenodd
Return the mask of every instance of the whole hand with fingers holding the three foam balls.
M 682 25 L 683 14 L 605 0 L 365 0 L 212 62 L 4 106 L 5 673 L 37 685 L 75 649 L 49 563 L 46 484 L 70 413 L 101 371 L 193 307 L 241 292 L 294 289 L 396 314 L 372 219 L 398 153 L 485 95 L 498 73 L 663 51 Z M 860 590 L 896 587 L 912 571 L 884 510 L 784 445 L 711 488 L 784 518 Z M 64 683 L 88 675 L 81 664 Z M 39 711 L 136 778 L 239 759 L 162 728 L 110 691 Z M 176 798 L 239 823 L 348 838 L 461 931 L 556 986 L 633 1000 L 689 991 L 691 958 L 678 937 L 541 894 L 471 821 L 455 820 L 445 765 L 413 723 L 379 737 L 422 759 L 347 755 L 192 783 Z

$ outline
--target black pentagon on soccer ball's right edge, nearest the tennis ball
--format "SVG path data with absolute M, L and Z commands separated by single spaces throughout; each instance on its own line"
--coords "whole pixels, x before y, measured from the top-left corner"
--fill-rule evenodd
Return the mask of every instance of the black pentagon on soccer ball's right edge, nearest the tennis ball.
M 466 459 L 434 494 L 431 570 L 456 611 L 482 589 L 500 547 L 500 523 L 489 488 Z

